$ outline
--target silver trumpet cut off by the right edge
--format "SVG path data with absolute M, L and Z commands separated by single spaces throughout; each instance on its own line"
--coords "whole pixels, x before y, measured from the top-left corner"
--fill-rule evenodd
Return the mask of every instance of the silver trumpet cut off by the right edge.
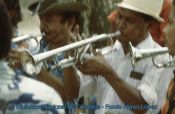
M 169 50 L 167 47 L 162 48 L 155 48 L 155 49 L 138 49 L 132 46 L 131 42 L 129 42 L 129 49 L 130 49 L 130 55 L 131 55 L 131 63 L 132 66 L 135 66 L 135 63 L 141 59 L 145 59 L 147 57 L 152 57 L 152 62 L 154 66 L 157 68 L 162 67 L 174 67 L 175 66 L 175 60 L 170 57 L 170 60 L 166 63 L 157 63 L 155 61 L 155 57 L 161 54 L 169 53 Z

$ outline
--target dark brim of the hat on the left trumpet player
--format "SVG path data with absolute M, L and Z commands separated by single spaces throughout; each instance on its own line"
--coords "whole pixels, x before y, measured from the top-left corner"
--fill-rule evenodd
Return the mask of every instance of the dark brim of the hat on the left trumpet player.
M 38 6 L 39 2 L 31 4 L 28 9 L 31 12 L 34 12 Z M 85 4 L 82 4 L 80 2 L 69 2 L 69 3 L 54 3 L 51 6 L 47 8 L 40 8 L 39 11 L 37 12 L 39 15 L 56 11 L 60 13 L 65 13 L 65 12 L 83 12 L 87 10 L 88 7 Z

